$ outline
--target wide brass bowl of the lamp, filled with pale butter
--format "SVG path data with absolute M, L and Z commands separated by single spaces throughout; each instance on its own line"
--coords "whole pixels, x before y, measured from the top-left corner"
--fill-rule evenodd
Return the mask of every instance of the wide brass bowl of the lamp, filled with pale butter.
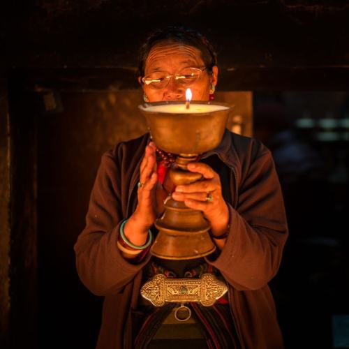
M 165 101 L 139 105 L 155 144 L 174 154 L 202 154 L 218 146 L 230 105 L 211 101 Z

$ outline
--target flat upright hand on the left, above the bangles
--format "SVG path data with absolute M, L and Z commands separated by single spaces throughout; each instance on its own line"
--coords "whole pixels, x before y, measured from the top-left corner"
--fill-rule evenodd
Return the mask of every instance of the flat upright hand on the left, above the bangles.
M 132 244 L 142 246 L 147 242 L 148 230 L 156 218 L 155 189 L 158 181 L 156 173 L 155 144 L 149 142 L 140 164 L 140 183 L 138 205 L 124 226 L 126 239 Z

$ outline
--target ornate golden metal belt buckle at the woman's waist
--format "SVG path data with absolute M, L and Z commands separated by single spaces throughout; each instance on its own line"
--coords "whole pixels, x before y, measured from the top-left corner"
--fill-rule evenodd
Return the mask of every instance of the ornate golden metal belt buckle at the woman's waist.
M 156 274 L 144 283 L 140 294 L 154 306 L 163 306 L 165 302 L 200 302 L 203 306 L 211 306 L 227 291 L 227 285 L 213 274 L 202 274 L 200 279 L 171 279 Z

